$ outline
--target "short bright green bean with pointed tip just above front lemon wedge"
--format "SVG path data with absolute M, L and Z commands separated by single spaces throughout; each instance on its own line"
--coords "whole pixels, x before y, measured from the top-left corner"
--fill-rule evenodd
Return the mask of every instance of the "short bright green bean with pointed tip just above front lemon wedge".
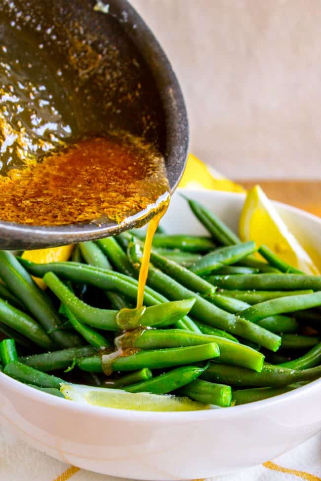
M 124 390 L 130 393 L 168 394 L 194 381 L 203 370 L 204 368 L 197 366 L 183 366 L 182 368 L 165 372 L 160 376 L 152 377 L 148 381 L 126 386 Z

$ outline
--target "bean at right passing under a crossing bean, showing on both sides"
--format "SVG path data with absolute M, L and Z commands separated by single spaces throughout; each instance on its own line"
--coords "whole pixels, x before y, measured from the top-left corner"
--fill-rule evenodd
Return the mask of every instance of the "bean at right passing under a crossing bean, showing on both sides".
M 247 302 L 219 294 L 212 296 L 211 301 L 228 312 L 232 312 L 233 314 L 240 313 L 242 317 L 243 310 L 250 307 L 250 304 L 247 304 Z M 269 316 L 256 321 L 256 324 L 272 333 L 296 333 L 299 329 L 299 324 L 293 317 L 283 315 Z

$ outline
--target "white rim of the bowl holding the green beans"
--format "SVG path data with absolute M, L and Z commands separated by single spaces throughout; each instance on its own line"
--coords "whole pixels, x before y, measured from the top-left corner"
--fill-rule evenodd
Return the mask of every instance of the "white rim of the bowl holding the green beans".
M 179 191 L 184 191 L 185 195 L 187 193 L 187 189 L 178 189 Z M 202 189 L 188 189 L 188 192 L 193 195 L 198 195 L 200 192 L 202 194 L 208 195 L 209 197 L 226 197 L 231 199 L 241 199 L 245 198 L 244 193 L 236 193 L 236 192 L 225 192 L 225 191 L 218 191 L 218 190 L 202 190 Z M 297 207 L 290 206 L 283 202 L 273 201 L 274 204 L 277 206 L 281 206 L 285 208 L 285 210 L 289 212 L 293 212 L 298 214 L 304 218 L 310 219 L 312 222 L 316 222 L 321 225 L 321 218 L 315 216 L 314 214 L 310 214 L 308 212 L 303 211 Z M 103 418 L 110 418 L 113 417 L 115 419 L 127 419 L 130 418 L 131 422 L 139 421 L 139 422 L 156 422 L 156 423 L 164 423 L 168 422 L 171 423 L 173 420 L 177 421 L 178 423 L 184 423 L 186 421 L 202 421 L 212 419 L 213 416 L 216 417 L 233 417 L 238 416 L 239 414 L 246 414 L 246 413 L 253 413 L 253 410 L 273 407 L 277 404 L 286 402 L 289 399 L 295 399 L 300 396 L 304 396 L 308 391 L 318 391 L 321 392 L 321 378 L 316 379 L 314 381 L 309 382 L 305 386 L 298 387 L 293 391 L 279 394 L 277 396 L 273 396 L 268 399 L 264 399 L 261 401 L 255 401 L 253 403 L 248 403 L 240 406 L 233 406 L 229 408 L 217 408 L 217 409 L 204 409 L 199 411 L 170 411 L 170 412 L 162 412 L 162 411 L 139 411 L 139 410 L 130 410 L 130 409 L 118 409 L 113 407 L 101 407 L 101 406 L 93 406 L 87 404 L 81 404 L 78 402 L 70 402 L 66 403 L 66 399 L 62 399 L 56 396 L 52 396 L 46 392 L 41 392 L 38 389 L 35 389 L 31 386 L 28 386 L 20 381 L 9 377 L 8 375 L 0 372 L 0 385 L 5 387 L 5 384 L 8 385 L 9 388 L 13 389 L 18 393 L 18 395 L 26 396 L 30 399 L 34 399 L 36 402 L 42 402 L 43 404 L 57 407 L 57 408 L 65 408 L 68 411 L 74 411 L 75 413 L 80 414 L 90 414 L 91 416 L 95 417 L 103 417 Z

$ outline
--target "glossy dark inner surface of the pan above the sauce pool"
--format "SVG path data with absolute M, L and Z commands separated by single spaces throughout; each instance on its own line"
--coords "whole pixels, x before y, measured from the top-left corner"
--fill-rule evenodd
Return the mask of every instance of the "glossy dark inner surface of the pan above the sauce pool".
M 127 131 L 164 152 L 153 76 L 121 19 L 97 5 L 0 2 L 1 173 L 110 131 Z

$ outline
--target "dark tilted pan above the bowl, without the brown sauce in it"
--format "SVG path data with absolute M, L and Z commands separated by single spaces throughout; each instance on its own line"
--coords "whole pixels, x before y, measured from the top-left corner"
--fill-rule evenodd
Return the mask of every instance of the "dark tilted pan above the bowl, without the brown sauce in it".
M 188 149 L 184 99 L 161 46 L 127 1 L 0 0 L 0 43 L 8 42 L 34 74 L 44 63 L 59 72 L 59 88 L 77 112 L 81 133 L 126 130 L 153 142 L 165 157 L 171 191 L 176 188 Z M 0 222 L 0 248 L 106 237 L 147 222 L 149 215 L 102 225 Z

